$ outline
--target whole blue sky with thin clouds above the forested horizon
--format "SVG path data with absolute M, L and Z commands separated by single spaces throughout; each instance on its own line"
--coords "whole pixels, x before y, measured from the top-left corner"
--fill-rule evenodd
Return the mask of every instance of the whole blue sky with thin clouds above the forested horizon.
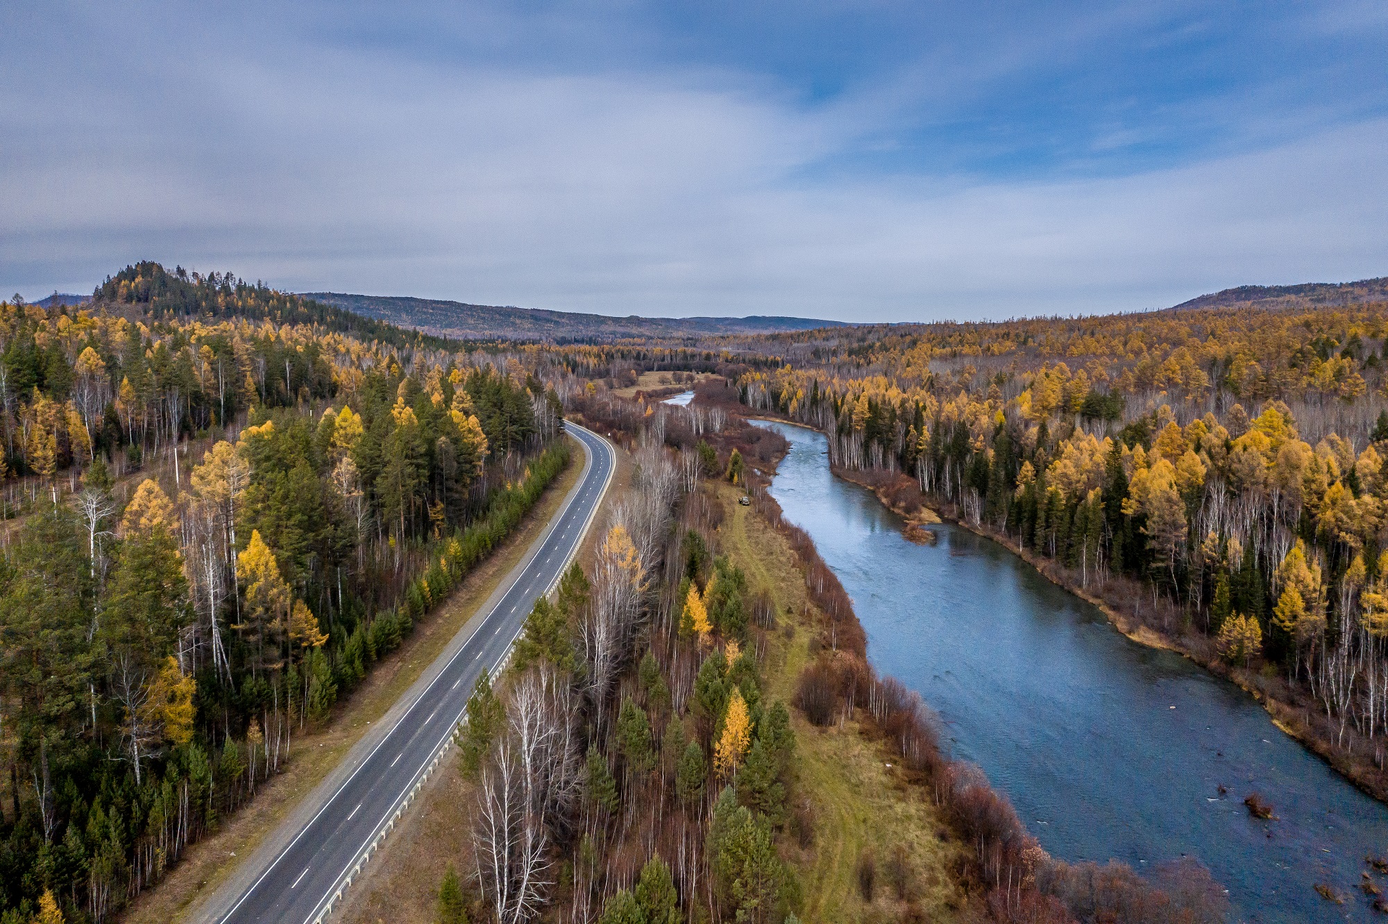
M 897 322 L 1382 276 L 1385 40 L 1381 0 L 15 0 L 0 291 Z

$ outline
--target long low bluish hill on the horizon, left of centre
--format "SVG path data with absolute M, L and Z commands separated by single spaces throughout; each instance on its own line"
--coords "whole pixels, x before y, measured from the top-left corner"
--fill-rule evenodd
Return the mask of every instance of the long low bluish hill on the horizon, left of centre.
M 469 305 L 461 301 L 408 298 L 397 296 L 351 296 L 336 291 L 301 293 L 335 308 L 376 318 L 426 333 L 477 339 L 514 340 L 619 340 L 625 337 L 708 337 L 718 334 L 786 333 L 815 327 L 848 326 L 841 320 L 813 318 L 609 318 L 541 308 Z

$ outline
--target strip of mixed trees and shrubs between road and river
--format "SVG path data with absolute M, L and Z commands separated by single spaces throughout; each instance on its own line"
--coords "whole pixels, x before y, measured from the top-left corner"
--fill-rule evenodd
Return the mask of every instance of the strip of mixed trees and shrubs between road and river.
M 958 845 L 941 870 L 901 842 L 829 860 L 852 869 L 874 916 L 862 920 L 1224 920 L 1223 889 L 1198 863 L 1140 877 L 1053 860 L 977 767 L 945 758 L 937 719 L 876 674 L 843 585 L 765 493 L 755 470 L 784 440 L 711 412 L 729 394 L 709 384 L 705 407 L 688 408 L 570 395 L 570 413 L 630 447 L 632 490 L 587 570 L 575 563 L 537 601 L 507 671 L 469 699 L 457 735 L 466 838 L 433 893 L 436 920 L 795 924 L 838 823 L 818 817 L 824 794 L 801 755 L 831 730 L 861 734 L 873 763 L 899 762 L 890 798 L 933 806 L 938 830 L 916 834 Z M 743 491 L 794 551 L 802 610 L 743 567 L 763 561 L 729 554 Z M 770 692 L 777 673 L 787 699 Z

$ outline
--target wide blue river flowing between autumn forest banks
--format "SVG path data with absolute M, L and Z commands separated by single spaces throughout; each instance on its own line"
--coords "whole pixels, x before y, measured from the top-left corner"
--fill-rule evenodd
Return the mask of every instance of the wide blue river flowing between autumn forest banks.
M 872 493 L 830 474 L 822 434 L 763 426 L 791 444 L 770 494 L 852 597 L 873 666 L 924 696 L 942 746 L 983 767 L 1048 852 L 1140 871 L 1194 856 L 1234 920 L 1378 917 L 1357 885 L 1364 856 L 1388 852 L 1388 807 L 1252 696 L 1130 641 L 997 542 L 949 524 L 937 545 L 908 542 Z M 1253 791 L 1274 821 L 1249 817 Z

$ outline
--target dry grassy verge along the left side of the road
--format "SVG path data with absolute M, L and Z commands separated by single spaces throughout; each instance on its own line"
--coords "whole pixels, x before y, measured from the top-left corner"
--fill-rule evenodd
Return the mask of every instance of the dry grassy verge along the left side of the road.
M 398 651 L 378 662 L 353 696 L 335 710 L 322 728 L 298 737 L 293 759 L 282 774 L 269 780 L 262 791 L 229 819 L 211 837 L 190 846 L 185 859 L 155 888 L 140 895 L 122 914 L 129 924 L 172 924 L 182 921 L 198 899 L 230 875 L 242 859 L 250 856 L 261 841 L 312 792 L 323 777 L 351 751 L 353 745 L 409 688 L 419 674 L 447 648 L 454 635 L 476 613 L 491 591 L 525 556 L 530 544 L 544 531 L 564 498 L 577 484 L 583 470 L 582 451 L 544 497 L 530 511 L 520 527 L 497 551 L 479 565 L 448 601 L 415 623 L 414 631 Z M 446 774 L 434 774 L 440 777 Z

